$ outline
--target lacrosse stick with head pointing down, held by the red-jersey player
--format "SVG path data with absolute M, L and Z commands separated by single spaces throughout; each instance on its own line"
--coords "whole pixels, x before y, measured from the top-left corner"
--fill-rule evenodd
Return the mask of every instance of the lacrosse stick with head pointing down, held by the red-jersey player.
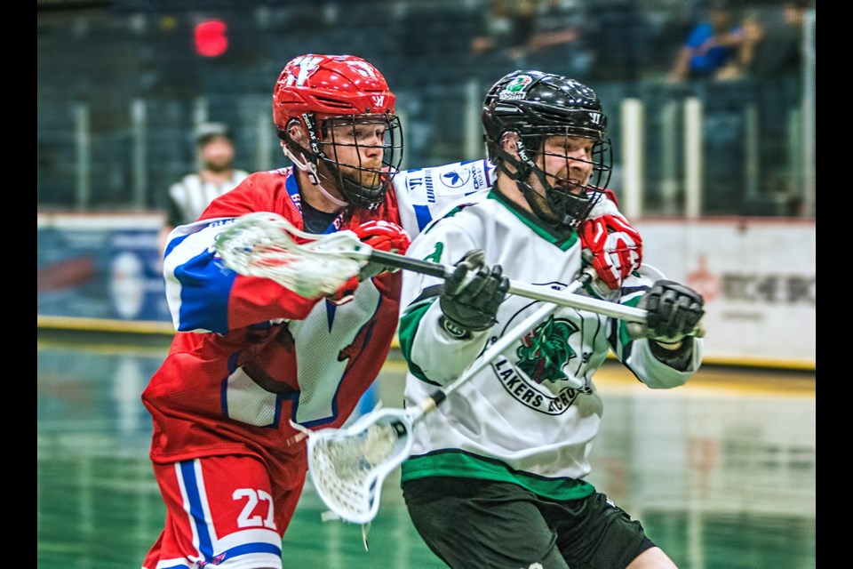
M 594 269 L 587 268 L 567 291 L 578 290 L 594 276 Z M 382 483 L 409 458 L 415 425 L 558 308 L 544 304 L 495 341 L 456 380 L 414 407 L 379 409 L 343 429 L 307 430 L 308 473 L 323 503 L 344 521 L 370 524 L 379 511 Z

